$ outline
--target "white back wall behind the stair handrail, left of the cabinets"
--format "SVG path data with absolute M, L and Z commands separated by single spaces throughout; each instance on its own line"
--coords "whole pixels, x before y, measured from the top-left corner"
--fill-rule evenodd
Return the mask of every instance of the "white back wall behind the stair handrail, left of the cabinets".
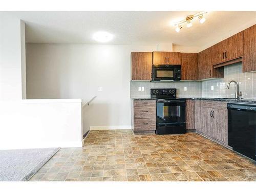
M 82 98 L 97 95 L 83 110 L 84 133 L 131 129 L 131 52 L 157 46 L 27 44 L 28 98 Z M 98 91 L 103 87 L 103 91 Z

